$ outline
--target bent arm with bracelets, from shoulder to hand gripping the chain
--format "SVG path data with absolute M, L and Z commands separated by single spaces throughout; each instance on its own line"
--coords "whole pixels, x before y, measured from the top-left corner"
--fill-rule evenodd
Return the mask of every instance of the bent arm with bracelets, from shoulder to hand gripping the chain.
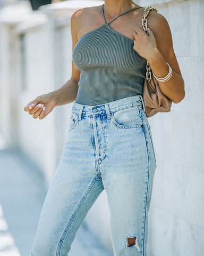
M 152 15 L 150 15 L 152 13 Z M 148 15 L 148 35 L 139 27 L 134 27 L 134 50 L 145 58 L 155 76 L 163 78 L 172 68 L 172 77 L 166 82 L 160 82 L 162 92 L 174 103 L 179 103 L 185 97 L 184 80 L 177 62 L 172 42 L 172 34 L 168 22 L 162 14 L 151 11 Z

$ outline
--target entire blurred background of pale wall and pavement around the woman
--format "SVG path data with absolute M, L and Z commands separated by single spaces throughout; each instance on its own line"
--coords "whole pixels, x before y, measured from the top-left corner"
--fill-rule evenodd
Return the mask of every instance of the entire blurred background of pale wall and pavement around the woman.
M 149 118 L 157 158 L 149 256 L 204 253 L 203 0 L 138 0 L 167 19 L 185 99 Z M 104 1 L 0 0 L 0 256 L 30 255 L 45 195 L 60 162 L 72 103 L 34 119 L 24 106 L 71 77 L 71 15 Z M 113 256 L 105 191 L 70 256 Z

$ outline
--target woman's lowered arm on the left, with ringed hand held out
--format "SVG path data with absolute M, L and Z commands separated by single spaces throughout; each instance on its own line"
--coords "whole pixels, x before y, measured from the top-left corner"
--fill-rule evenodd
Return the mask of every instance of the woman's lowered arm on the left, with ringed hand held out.
M 72 35 L 72 51 L 77 44 L 78 31 L 78 11 L 73 13 L 71 17 L 71 35 Z M 69 81 L 62 85 L 59 89 L 38 96 L 35 100 L 30 101 L 25 107 L 25 111 L 29 111 L 33 118 L 45 118 L 56 106 L 62 106 L 75 101 L 78 92 L 78 82 L 80 79 L 80 71 L 75 68 L 72 61 L 72 75 Z

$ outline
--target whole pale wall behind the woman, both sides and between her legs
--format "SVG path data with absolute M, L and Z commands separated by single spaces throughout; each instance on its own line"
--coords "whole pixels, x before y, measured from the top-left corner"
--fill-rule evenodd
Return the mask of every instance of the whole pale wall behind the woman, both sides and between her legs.
M 141 6 L 155 6 L 167 19 L 186 92 L 181 103 L 173 103 L 170 113 L 149 118 L 157 170 L 149 210 L 148 256 L 201 256 L 204 251 L 204 2 L 136 2 Z M 45 174 L 47 185 L 60 161 L 72 103 L 56 107 L 43 120 L 33 119 L 23 107 L 38 95 L 61 87 L 70 78 L 70 17 L 81 7 L 101 3 L 64 1 L 42 6 L 35 12 L 23 3 L 23 11 L 12 18 L 0 12 L 0 131 L 9 147 L 19 148 L 36 162 Z M 84 221 L 112 251 L 105 191 Z

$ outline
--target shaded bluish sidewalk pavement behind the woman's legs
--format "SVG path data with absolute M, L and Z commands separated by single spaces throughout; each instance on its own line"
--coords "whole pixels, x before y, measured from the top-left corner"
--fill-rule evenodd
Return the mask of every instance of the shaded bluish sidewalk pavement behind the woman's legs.
M 29 256 L 47 192 L 43 175 L 20 152 L 0 150 L 0 177 L 0 256 Z M 69 256 L 111 254 L 82 222 Z

